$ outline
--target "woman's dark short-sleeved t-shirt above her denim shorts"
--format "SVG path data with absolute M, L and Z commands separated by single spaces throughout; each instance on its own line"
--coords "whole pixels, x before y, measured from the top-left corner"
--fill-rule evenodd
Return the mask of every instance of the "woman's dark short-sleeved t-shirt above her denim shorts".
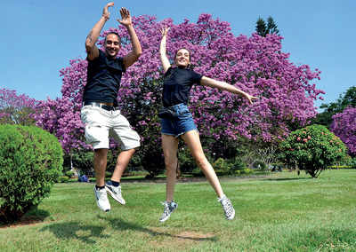
M 163 106 L 188 105 L 191 86 L 200 83 L 202 77 L 187 68 L 169 67 L 163 83 Z

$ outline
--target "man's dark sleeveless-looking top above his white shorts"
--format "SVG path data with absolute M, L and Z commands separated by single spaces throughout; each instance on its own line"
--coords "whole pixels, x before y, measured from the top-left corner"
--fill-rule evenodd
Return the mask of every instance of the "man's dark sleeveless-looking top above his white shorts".
M 123 58 L 109 59 L 99 50 L 99 57 L 88 60 L 86 85 L 83 101 L 117 101 L 122 73 L 125 73 Z

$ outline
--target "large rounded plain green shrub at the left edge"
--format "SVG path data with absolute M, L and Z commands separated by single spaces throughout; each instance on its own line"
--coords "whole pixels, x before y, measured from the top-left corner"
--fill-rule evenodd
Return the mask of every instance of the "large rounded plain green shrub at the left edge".
M 13 222 L 50 193 L 61 174 L 61 145 L 35 126 L 0 125 L 0 221 Z

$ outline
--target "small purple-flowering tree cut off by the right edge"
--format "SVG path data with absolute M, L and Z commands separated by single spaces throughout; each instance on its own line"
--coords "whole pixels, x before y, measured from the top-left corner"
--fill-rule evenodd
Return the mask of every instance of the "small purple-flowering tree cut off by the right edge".
M 330 130 L 349 148 L 349 154 L 356 156 L 356 107 L 349 106 L 334 114 Z

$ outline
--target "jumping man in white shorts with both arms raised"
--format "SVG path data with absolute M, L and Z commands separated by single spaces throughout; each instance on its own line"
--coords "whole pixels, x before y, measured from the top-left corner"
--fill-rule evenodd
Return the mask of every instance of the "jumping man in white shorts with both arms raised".
M 105 5 L 101 19 L 94 25 L 85 40 L 88 68 L 81 110 L 81 119 L 85 124 L 85 139 L 94 149 L 93 165 L 96 177 L 94 195 L 99 209 L 105 212 L 110 210 L 107 192 L 114 200 L 125 204 L 121 195 L 120 179 L 135 148 L 140 146 L 140 136 L 131 128 L 130 123 L 120 114 L 117 107 L 117 92 L 121 76 L 127 67 L 133 65 L 142 54 L 130 12 L 121 8 L 121 20 L 117 21 L 127 29 L 133 45 L 132 51 L 123 58 L 117 58 L 121 41 L 115 32 L 109 32 L 106 35 L 105 51 L 99 50 L 95 45 L 101 29 L 109 20 L 109 7 L 113 5 L 114 3 Z M 117 164 L 111 179 L 105 184 L 109 136 L 117 139 L 122 152 L 117 157 Z

